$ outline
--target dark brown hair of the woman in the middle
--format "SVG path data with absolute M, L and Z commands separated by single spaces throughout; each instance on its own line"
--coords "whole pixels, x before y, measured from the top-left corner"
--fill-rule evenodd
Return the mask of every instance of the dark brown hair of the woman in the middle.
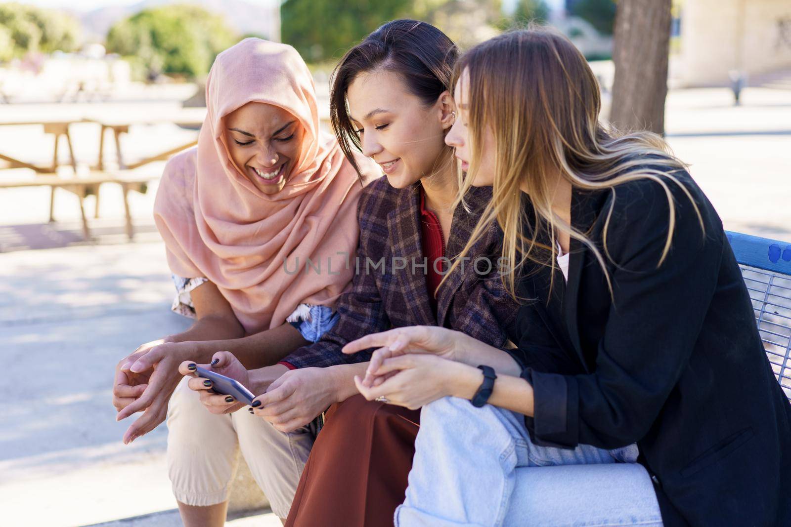
M 376 70 L 399 73 L 409 91 L 430 106 L 450 89 L 458 56 L 458 47 L 445 33 L 426 22 L 406 19 L 380 26 L 346 51 L 332 73 L 330 119 L 341 150 L 358 173 L 352 146 L 361 150 L 360 137 L 346 105 L 346 90 L 354 79 Z

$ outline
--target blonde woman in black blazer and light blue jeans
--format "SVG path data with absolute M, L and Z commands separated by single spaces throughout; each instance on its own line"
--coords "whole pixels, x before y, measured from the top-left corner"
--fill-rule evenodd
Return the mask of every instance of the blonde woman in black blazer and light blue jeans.
M 365 397 L 426 405 L 395 524 L 791 525 L 791 406 L 683 164 L 600 125 L 585 59 L 545 29 L 468 51 L 455 99 L 462 192 L 493 187 L 460 256 L 503 228 L 519 350 L 420 326 L 346 346 L 379 348 Z

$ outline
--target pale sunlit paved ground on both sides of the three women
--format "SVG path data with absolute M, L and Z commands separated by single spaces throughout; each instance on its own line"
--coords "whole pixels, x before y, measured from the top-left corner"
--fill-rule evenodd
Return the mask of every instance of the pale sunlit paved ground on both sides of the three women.
M 725 89 L 671 92 L 668 141 L 692 164 L 726 228 L 791 240 L 791 91 L 749 88 L 743 103 L 732 107 Z M 151 127 L 131 149 L 182 133 L 179 140 L 191 132 Z M 25 131 L 29 138 L 2 134 L 4 151 L 47 157 L 35 130 Z M 87 162 L 97 142 L 88 127 L 81 134 L 78 157 Z M 187 326 L 168 311 L 172 284 L 150 220 L 153 190 L 131 198 L 140 235 L 130 244 L 119 191 L 108 186 L 93 222 L 97 245 L 80 239 L 73 196 L 58 195 L 59 223 L 47 225 L 46 190 L 0 190 L 0 359 L 11 381 L 0 402 L 2 525 L 179 525 L 165 429 L 123 446 L 127 424 L 115 423 L 110 404 L 119 357 Z M 279 522 L 259 514 L 229 525 L 253 524 Z

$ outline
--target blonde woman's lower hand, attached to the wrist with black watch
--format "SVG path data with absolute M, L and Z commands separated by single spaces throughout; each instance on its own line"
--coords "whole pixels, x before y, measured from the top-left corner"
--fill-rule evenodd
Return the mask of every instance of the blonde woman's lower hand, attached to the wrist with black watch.
M 391 405 L 416 410 L 441 397 L 467 397 L 475 393 L 483 374 L 478 368 L 427 354 L 407 354 L 384 359 L 377 379 L 369 386 L 354 378 L 363 397 L 374 401 L 385 397 Z M 366 375 L 367 376 L 367 375 Z

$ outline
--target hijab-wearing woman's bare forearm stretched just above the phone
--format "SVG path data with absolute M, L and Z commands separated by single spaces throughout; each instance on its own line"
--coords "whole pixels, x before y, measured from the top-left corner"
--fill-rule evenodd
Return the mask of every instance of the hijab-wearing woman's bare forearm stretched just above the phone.
M 267 329 L 248 337 L 196 343 L 200 355 L 231 352 L 248 370 L 271 366 L 295 349 L 310 344 L 290 324 Z

